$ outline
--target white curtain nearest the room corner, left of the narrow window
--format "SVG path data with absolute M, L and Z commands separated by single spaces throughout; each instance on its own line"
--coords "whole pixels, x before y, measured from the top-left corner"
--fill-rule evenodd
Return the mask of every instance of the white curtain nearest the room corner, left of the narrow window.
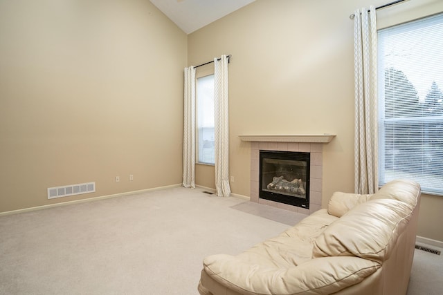
M 195 189 L 195 67 L 185 68 L 183 187 Z

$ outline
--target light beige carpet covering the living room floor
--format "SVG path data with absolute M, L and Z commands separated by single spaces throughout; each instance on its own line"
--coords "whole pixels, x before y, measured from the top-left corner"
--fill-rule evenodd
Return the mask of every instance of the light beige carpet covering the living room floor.
M 277 210 L 179 187 L 3 216 L 0 294 L 197 294 L 204 256 L 237 254 L 300 217 Z M 441 294 L 441 256 L 417 257 L 408 294 Z

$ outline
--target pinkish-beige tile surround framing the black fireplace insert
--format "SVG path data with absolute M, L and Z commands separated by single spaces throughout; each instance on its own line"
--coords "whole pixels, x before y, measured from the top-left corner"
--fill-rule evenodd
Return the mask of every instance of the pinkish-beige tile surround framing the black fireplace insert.
M 273 202 L 259 198 L 260 150 L 300 151 L 311 153 L 311 182 L 309 189 L 309 209 Z M 321 209 L 323 184 L 323 143 L 319 142 L 266 142 L 251 140 L 251 202 L 309 215 Z

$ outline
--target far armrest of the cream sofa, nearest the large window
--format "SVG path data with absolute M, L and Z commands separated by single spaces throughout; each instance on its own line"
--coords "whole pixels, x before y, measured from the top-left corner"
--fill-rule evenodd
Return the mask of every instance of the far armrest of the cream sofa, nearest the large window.
M 358 204 L 362 204 L 370 200 L 371 195 L 360 195 L 358 193 L 342 193 L 341 191 L 335 192 L 329 204 L 327 205 L 327 213 L 340 218 L 347 211 L 356 207 Z

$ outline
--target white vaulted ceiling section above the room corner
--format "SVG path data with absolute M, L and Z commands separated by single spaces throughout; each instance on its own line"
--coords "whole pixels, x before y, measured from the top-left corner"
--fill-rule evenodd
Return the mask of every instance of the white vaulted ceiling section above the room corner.
M 255 0 L 150 0 L 169 19 L 190 34 Z

